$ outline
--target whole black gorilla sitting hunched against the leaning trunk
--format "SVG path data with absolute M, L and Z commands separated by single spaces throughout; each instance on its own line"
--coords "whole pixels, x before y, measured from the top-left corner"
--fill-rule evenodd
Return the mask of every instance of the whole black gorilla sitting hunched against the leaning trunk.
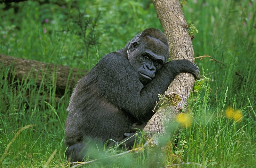
M 78 81 L 65 126 L 66 156 L 71 162 L 83 160 L 89 140 L 101 144 L 109 139 L 122 142 L 129 135 L 125 133 L 143 128 L 154 114 L 158 94 L 163 94 L 180 72 L 192 73 L 200 79 L 194 63 L 167 62 L 168 56 L 165 35 L 148 28 L 123 49 L 105 55 Z

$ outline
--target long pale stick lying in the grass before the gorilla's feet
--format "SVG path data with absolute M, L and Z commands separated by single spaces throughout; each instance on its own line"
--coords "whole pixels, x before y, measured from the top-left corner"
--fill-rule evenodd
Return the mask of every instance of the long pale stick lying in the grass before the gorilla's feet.
M 150 138 L 143 146 L 139 147 L 139 148 L 134 148 L 134 149 L 131 149 L 131 150 L 127 150 L 127 151 L 124 151 L 122 153 L 119 153 L 117 155 L 112 155 L 112 156 L 108 156 L 108 157 L 104 157 L 104 158 L 100 158 L 100 159 L 94 159 L 94 160 L 90 160 L 88 162 L 71 162 L 69 164 L 76 164 L 74 166 L 72 166 L 71 168 L 74 168 L 74 167 L 78 167 L 78 166 L 81 166 L 81 165 L 85 165 L 85 164 L 89 164 L 89 163 L 93 163 L 93 162 L 96 162 L 98 160 L 102 160 L 102 159 L 109 159 L 109 158 L 112 158 L 112 157 L 118 157 L 118 156 L 123 156 L 127 153 L 133 153 L 135 151 L 140 151 L 142 150 L 143 148 L 145 148 L 148 144 L 150 144 L 152 141 L 153 141 L 154 137 Z M 77 164 L 78 163 L 78 164 Z

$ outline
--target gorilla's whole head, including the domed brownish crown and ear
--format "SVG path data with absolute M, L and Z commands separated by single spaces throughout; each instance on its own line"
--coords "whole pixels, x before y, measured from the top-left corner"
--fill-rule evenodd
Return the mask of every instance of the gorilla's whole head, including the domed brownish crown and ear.
M 148 28 L 135 36 L 128 44 L 127 55 L 140 82 L 147 85 L 168 60 L 168 41 L 158 29 Z

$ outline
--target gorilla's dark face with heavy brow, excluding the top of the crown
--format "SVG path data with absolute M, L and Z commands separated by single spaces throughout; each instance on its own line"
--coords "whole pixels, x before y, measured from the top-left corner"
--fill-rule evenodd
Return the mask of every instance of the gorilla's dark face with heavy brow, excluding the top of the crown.
M 147 85 L 155 78 L 156 71 L 167 62 L 169 51 L 168 46 L 158 39 L 148 37 L 141 41 L 131 44 L 128 59 L 140 82 Z

